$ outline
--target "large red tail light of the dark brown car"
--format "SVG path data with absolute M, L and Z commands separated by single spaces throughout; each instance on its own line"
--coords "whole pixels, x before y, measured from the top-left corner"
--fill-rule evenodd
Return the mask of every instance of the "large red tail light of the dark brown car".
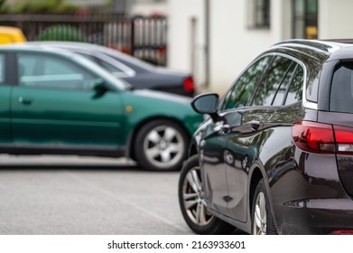
M 312 153 L 353 155 L 353 128 L 310 121 L 293 124 L 295 145 Z

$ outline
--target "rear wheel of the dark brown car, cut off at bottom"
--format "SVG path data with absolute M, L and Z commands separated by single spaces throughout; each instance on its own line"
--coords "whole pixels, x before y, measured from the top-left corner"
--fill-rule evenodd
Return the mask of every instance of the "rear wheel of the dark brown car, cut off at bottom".
M 276 235 L 274 216 L 265 187 L 265 180 L 257 184 L 251 211 L 253 235 Z

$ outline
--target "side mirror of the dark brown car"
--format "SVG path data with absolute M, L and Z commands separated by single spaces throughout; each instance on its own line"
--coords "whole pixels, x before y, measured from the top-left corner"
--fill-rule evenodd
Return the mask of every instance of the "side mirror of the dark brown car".
M 217 116 L 219 96 L 216 93 L 201 94 L 193 98 L 191 107 L 200 114 L 209 114 L 215 119 Z

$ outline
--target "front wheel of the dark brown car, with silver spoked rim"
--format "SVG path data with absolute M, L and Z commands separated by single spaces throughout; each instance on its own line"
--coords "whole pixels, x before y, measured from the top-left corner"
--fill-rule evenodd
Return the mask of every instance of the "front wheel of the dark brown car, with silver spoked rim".
M 179 204 L 184 220 L 198 234 L 228 234 L 235 230 L 235 227 L 207 211 L 203 194 L 199 157 L 192 155 L 184 163 L 179 178 Z

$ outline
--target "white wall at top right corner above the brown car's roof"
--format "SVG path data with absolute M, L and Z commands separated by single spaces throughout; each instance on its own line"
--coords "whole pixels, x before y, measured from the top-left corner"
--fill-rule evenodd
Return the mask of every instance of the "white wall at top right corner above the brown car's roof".
M 319 39 L 353 38 L 353 1 L 319 1 Z

